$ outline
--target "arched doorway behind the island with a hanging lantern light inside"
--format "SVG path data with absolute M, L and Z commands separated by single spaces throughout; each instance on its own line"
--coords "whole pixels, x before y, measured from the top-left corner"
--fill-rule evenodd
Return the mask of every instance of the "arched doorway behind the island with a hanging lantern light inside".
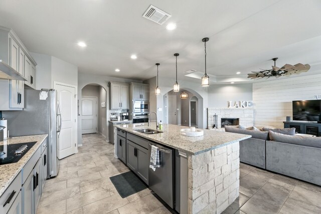
M 185 92 L 187 99 L 181 99 Z M 169 91 L 164 95 L 164 122 L 203 128 L 203 98 L 196 91 L 183 88 L 180 92 Z

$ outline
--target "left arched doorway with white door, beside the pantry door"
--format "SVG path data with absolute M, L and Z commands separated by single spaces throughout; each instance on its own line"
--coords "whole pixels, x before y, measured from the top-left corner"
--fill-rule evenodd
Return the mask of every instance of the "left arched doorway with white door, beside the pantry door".
M 79 116 L 81 133 L 100 133 L 107 136 L 107 91 L 97 83 L 89 83 L 81 89 L 79 97 Z

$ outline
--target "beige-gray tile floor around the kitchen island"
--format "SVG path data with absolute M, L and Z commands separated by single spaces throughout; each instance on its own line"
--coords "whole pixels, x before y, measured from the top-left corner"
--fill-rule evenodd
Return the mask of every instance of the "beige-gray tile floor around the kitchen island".
M 171 213 L 149 189 L 121 198 L 109 177 L 129 169 L 114 158 L 114 146 L 98 134 L 82 140 L 47 180 L 38 214 Z M 321 213 L 321 187 L 241 163 L 240 197 L 224 213 Z

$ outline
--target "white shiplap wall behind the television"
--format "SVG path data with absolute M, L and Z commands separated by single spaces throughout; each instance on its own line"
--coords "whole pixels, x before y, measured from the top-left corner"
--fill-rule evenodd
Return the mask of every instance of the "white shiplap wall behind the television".
M 253 83 L 254 126 L 283 128 L 293 100 L 321 99 L 321 74 Z

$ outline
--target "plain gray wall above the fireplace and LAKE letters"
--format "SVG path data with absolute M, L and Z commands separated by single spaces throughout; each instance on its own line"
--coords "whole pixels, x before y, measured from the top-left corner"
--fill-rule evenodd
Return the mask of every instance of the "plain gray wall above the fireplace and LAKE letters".
M 228 107 L 228 101 L 252 100 L 252 83 L 210 85 L 208 87 L 208 107 Z

